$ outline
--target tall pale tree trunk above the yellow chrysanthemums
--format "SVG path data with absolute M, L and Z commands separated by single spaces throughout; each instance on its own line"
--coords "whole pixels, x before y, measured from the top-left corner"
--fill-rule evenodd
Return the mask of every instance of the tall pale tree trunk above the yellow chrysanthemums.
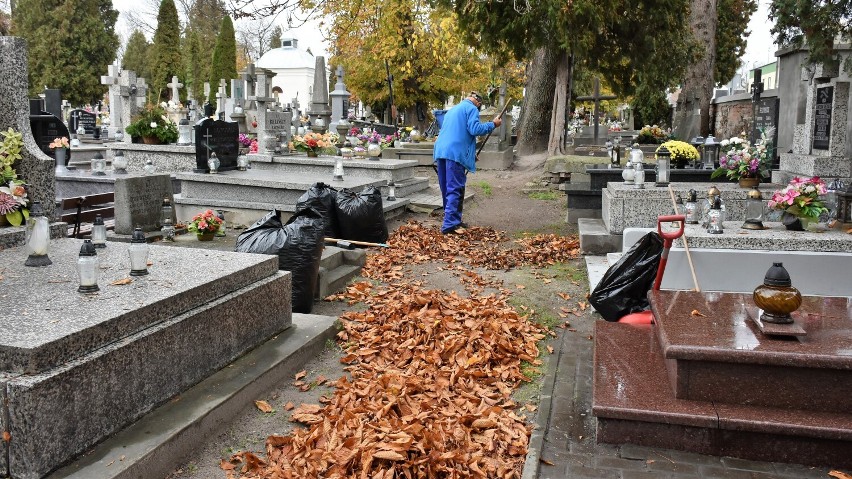
M 698 99 L 698 104 L 692 109 L 701 109 L 698 132 L 702 136 L 710 133 L 710 101 L 713 98 L 713 71 L 716 64 L 716 12 L 717 0 L 692 0 L 689 13 L 689 24 L 696 41 L 701 45 L 701 56 L 692 63 L 686 72 L 686 79 L 681 90 L 682 95 Z M 692 114 L 686 106 L 692 104 L 692 98 L 678 99 L 678 118 L 687 120 Z M 683 125 L 683 123 L 681 123 Z M 688 138 L 684 138 L 689 141 Z

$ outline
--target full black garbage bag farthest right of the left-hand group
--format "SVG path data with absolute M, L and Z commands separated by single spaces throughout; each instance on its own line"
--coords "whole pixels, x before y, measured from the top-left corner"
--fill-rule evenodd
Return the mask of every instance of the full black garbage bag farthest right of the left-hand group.
M 384 243 L 388 225 L 382 207 L 382 192 L 367 187 L 361 193 L 343 189 L 337 192 L 337 224 L 342 239 Z

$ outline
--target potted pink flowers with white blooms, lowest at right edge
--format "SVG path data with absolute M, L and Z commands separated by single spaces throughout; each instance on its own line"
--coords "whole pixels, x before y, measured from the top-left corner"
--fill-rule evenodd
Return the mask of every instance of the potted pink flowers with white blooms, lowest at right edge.
M 802 231 L 828 211 L 821 196 L 827 193 L 825 182 L 818 176 L 790 180 L 781 190 L 772 193 L 768 206 L 781 210 L 781 222 L 788 230 Z

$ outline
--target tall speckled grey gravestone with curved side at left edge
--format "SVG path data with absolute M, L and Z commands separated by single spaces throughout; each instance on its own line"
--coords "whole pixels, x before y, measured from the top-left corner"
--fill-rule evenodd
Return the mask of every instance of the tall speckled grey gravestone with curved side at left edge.
M 23 134 L 23 157 L 16 163 L 18 177 L 29 185 L 29 197 L 43 205 L 56 202 L 53 158 L 41 152 L 30 130 L 27 102 L 27 42 L 23 38 L 0 36 L 0 130 L 14 128 Z M 45 214 L 53 217 L 52 208 Z M 2 449 L 0 449 L 2 453 Z

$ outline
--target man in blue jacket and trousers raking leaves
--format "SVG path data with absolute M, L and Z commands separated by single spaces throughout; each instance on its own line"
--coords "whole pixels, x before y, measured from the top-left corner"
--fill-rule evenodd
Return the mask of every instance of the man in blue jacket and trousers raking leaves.
M 491 133 L 503 122 L 501 118 L 482 123 L 479 108 L 482 96 L 470 92 L 458 105 L 444 115 L 433 158 L 438 167 L 438 185 L 444 202 L 444 223 L 441 232 L 460 234 L 467 226 L 462 222 L 462 204 L 467 184 L 467 172 L 476 171 L 476 137 Z

